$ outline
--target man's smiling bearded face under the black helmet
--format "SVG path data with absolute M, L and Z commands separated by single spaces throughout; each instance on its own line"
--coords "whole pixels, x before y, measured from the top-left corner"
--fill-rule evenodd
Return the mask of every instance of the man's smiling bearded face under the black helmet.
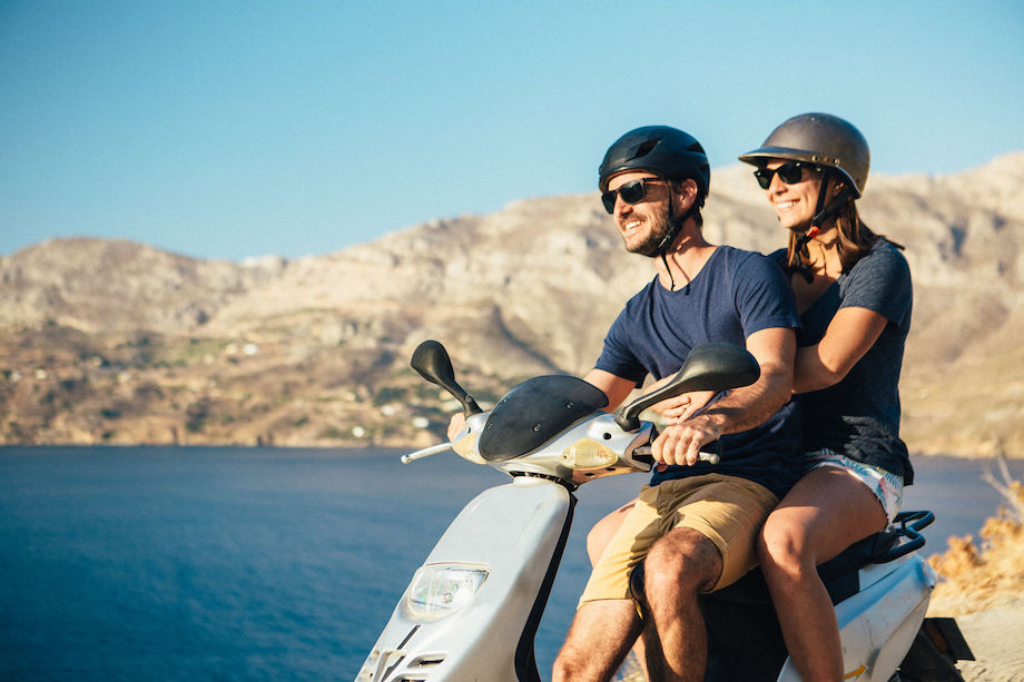
M 671 229 L 668 215 L 669 185 L 657 176 L 640 170 L 614 176 L 608 181 L 608 189 L 618 191 L 622 186 L 638 180 L 649 180 L 643 182 L 643 199 L 628 204 L 622 197 L 618 197 L 612 215 L 622 234 L 626 250 L 651 256 Z

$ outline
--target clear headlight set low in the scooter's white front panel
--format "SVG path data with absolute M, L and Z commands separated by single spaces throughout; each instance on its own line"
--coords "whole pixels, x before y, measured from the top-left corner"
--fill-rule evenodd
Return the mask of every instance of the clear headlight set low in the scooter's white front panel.
M 422 566 L 405 597 L 405 615 L 413 621 L 436 621 L 469 606 L 489 573 L 484 566 L 469 564 Z

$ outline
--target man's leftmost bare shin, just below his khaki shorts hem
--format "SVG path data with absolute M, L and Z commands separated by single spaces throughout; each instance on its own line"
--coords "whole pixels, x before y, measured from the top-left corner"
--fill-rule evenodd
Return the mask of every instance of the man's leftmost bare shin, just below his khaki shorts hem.
M 611 680 L 639 634 L 640 617 L 632 600 L 587 602 L 577 611 L 554 661 L 552 680 Z

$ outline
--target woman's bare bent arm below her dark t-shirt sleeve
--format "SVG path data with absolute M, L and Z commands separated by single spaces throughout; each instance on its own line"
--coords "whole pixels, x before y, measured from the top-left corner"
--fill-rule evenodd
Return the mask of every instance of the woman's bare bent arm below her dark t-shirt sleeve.
M 887 324 L 889 320 L 874 310 L 840 308 L 816 346 L 797 349 L 792 392 L 820 391 L 841 382 Z

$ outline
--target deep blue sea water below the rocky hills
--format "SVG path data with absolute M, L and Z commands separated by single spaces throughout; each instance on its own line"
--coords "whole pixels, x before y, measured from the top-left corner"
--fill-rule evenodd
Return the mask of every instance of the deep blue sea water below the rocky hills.
M 400 454 L 0 447 L 0 680 L 352 680 L 447 523 L 508 480 Z M 914 464 L 904 508 L 937 516 L 925 554 L 995 513 L 991 463 Z M 587 579 L 587 530 L 643 480 L 579 491 L 542 676 Z

